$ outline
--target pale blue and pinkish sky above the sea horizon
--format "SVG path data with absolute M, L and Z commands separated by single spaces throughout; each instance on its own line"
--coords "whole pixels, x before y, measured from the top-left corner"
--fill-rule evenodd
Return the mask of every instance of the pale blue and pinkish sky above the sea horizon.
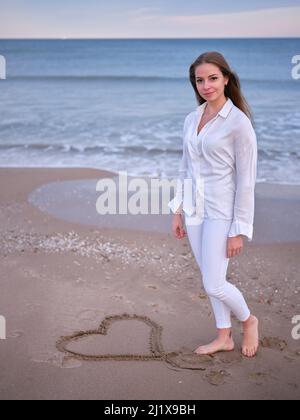
M 300 37 L 300 0 L 0 0 L 0 38 Z

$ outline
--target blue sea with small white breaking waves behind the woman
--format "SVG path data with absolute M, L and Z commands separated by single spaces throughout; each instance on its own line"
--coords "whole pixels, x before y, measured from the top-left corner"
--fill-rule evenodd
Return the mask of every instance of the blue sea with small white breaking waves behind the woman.
M 300 38 L 2 39 L 0 166 L 176 176 L 184 118 L 198 106 L 189 67 L 205 51 L 240 78 L 257 182 L 300 185 Z

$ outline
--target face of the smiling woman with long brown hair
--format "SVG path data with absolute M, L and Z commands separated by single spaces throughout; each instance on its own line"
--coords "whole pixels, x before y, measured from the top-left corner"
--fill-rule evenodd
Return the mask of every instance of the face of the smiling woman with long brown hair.
M 225 84 L 228 77 L 224 77 L 218 66 L 204 63 L 196 67 L 196 84 L 202 98 L 214 102 L 224 96 Z

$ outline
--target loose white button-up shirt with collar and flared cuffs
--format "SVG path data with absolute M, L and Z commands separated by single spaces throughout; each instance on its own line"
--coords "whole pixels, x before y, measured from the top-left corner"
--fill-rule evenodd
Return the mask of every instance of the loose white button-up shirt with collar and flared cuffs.
M 177 190 L 168 207 L 173 213 L 182 209 L 188 217 L 201 215 L 202 221 L 204 218 L 232 220 L 228 236 L 245 235 L 251 241 L 256 134 L 248 116 L 227 98 L 222 109 L 197 136 L 206 106 L 207 102 L 185 118 Z

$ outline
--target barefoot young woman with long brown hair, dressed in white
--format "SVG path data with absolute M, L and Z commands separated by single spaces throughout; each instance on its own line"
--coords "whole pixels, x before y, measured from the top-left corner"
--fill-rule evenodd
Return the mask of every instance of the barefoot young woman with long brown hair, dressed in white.
M 199 106 L 184 122 L 179 184 L 168 205 L 175 213 L 172 229 L 178 239 L 186 236 L 185 221 L 218 329 L 216 340 L 195 353 L 234 349 L 233 312 L 243 325 L 242 352 L 253 357 L 259 346 L 258 319 L 226 273 L 229 258 L 241 253 L 244 237 L 252 240 L 256 135 L 239 78 L 222 54 L 202 54 L 190 67 L 190 81 Z M 186 179 L 192 180 L 192 188 L 186 188 Z

